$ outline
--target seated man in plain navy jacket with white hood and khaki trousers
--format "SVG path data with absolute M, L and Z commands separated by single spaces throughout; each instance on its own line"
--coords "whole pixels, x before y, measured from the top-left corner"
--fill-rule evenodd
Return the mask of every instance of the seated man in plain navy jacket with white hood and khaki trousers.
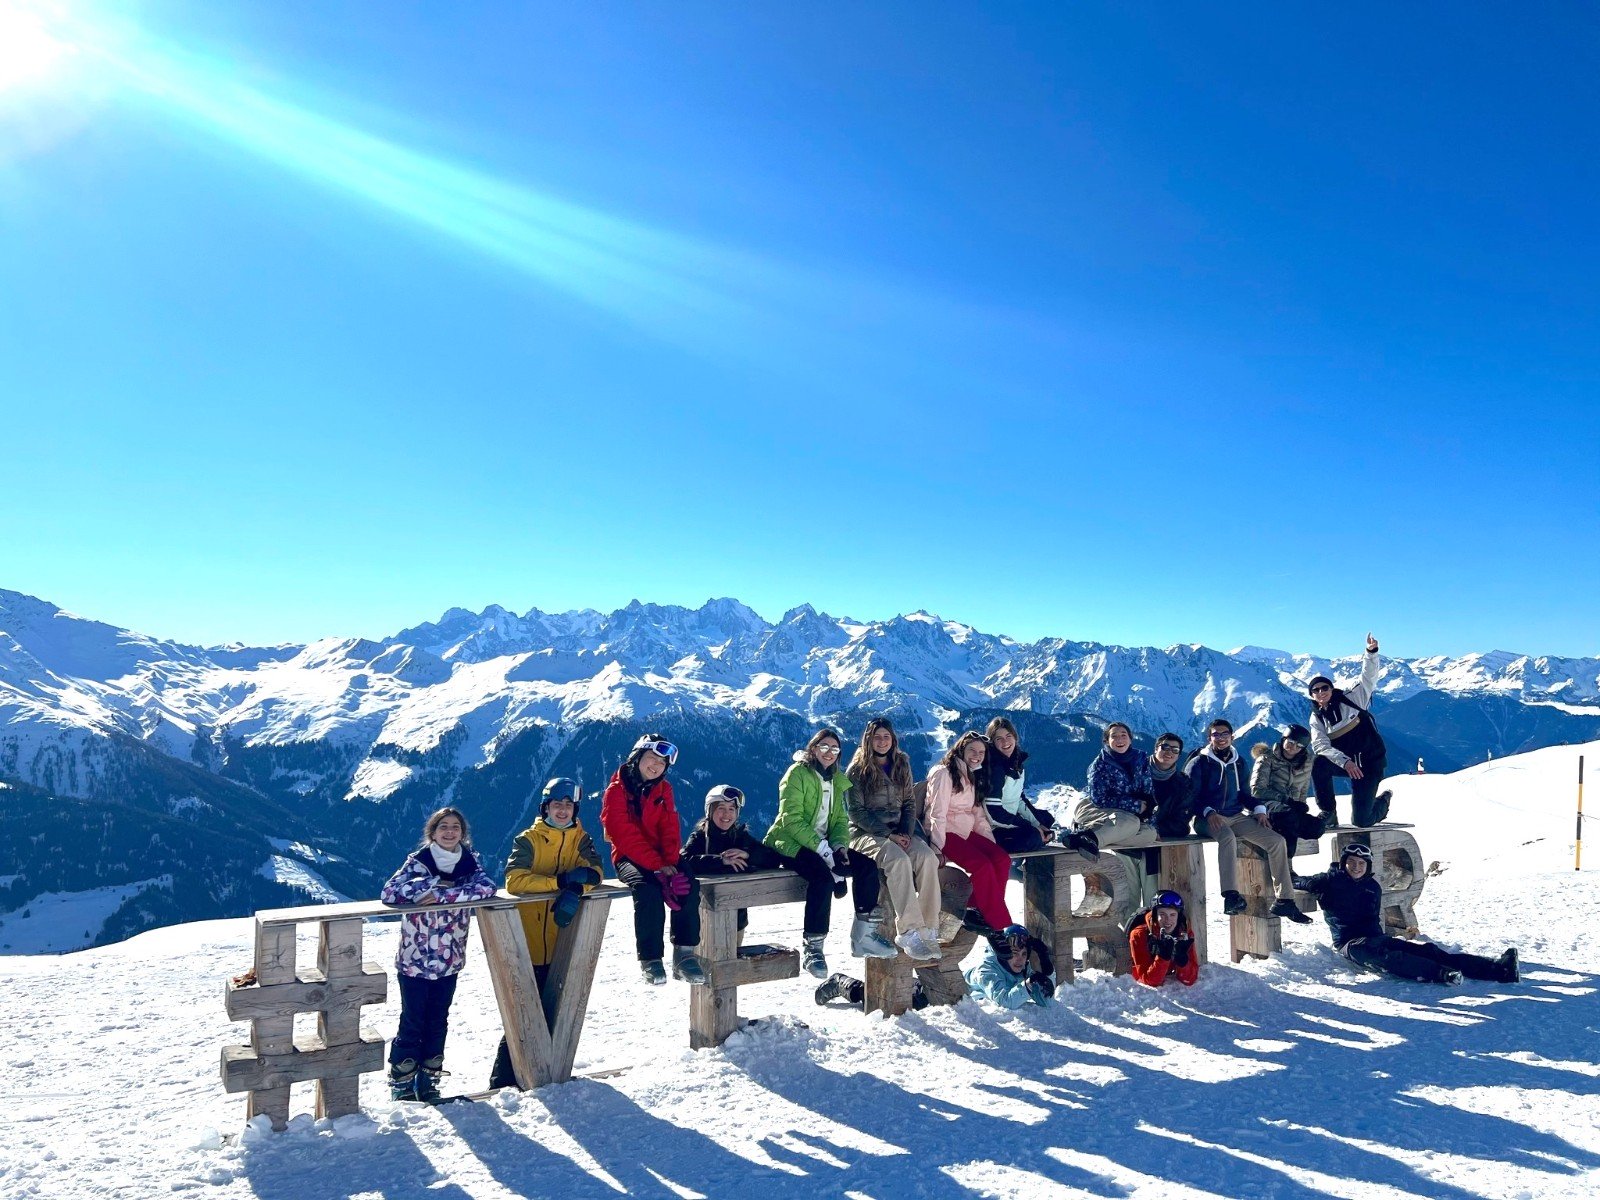
M 1310 917 L 1294 904 L 1294 883 L 1283 838 L 1272 830 L 1266 805 L 1250 794 L 1250 776 L 1234 749 L 1232 722 L 1218 717 L 1206 726 L 1206 744 L 1189 757 L 1184 773 L 1194 787 L 1195 832 L 1216 838 L 1216 867 L 1222 885 L 1222 912 L 1234 917 L 1248 906 L 1238 893 L 1238 861 L 1235 838 L 1259 846 L 1267 854 L 1267 867 L 1278 899 L 1269 909 L 1274 917 L 1286 917 L 1296 925 L 1309 925 Z

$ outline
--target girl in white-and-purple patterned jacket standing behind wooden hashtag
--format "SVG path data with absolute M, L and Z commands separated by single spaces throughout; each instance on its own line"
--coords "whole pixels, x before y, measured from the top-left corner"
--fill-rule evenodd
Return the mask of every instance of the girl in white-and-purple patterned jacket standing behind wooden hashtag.
M 422 845 L 384 883 L 384 904 L 454 904 L 494 894 L 470 850 L 467 818 L 440 808 L 422 826 Z M 400 918 L 400 1029 L 389 1043 L 389 1094 L 403 1101 L 438 1099 L 445 1069 L 445 1032 L 456 976 L 467 965 L 470 909 L 408 912 Z

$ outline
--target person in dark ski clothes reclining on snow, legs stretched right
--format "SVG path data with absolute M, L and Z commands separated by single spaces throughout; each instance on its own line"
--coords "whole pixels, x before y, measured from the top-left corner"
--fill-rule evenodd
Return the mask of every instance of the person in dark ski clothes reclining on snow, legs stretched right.
M 1459 984 L 1462 976 L 1514 984 L 1520 978 L 1515 947 L 1486 958 L 1387 936 L 1379 920 L 1384 890 L 1373 875 L 1373 851 L 1365 842 L 1347 845 L 1338 862 L 1304 883 L 1328 918 L 1333 949 L 1358 966 L 1426 984 Z

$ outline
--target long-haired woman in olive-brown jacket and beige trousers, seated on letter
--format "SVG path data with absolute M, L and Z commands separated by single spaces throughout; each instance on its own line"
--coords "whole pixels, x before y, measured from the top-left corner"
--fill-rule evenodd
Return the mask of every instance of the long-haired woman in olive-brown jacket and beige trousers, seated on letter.
M 933 962 L 942 957 L 939 856 L 917 834 L 910 758 L 899 747 L 888 717 L 867 722 L 848 774 L 851 789 L 845 792 L 845 805 L 850 810 L 850 850 L 861 869 L 856 877 L 856 922 L 850 926 L 850 949 L 869 958 L 885 957 L 885 952 L 894 949 L 877 933 L 877 899 L 867 898 L 867 880 L 862 878 L 870 875 L 875 885 L 882 874 L 894 904 L 894 946 L 912 958 Z

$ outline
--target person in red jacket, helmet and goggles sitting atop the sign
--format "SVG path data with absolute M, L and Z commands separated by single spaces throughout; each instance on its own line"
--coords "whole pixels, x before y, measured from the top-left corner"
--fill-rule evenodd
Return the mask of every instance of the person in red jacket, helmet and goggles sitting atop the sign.
M 678 869 L 678 810 L 672 800 L 667 768 L 678 758 L 678 747 L 659 733 L 646 733 L 600 800 L 600 827 L 611 843 L 616 877 L 634 893 L 634 944 L 638 970 L 648 984 L 667 982 L 662 966 L 662 926 L 672 909 L 672 974 L 686 984 L 704 984 L 706 970 L 694 947 L 699 944 L 699 886 Z

